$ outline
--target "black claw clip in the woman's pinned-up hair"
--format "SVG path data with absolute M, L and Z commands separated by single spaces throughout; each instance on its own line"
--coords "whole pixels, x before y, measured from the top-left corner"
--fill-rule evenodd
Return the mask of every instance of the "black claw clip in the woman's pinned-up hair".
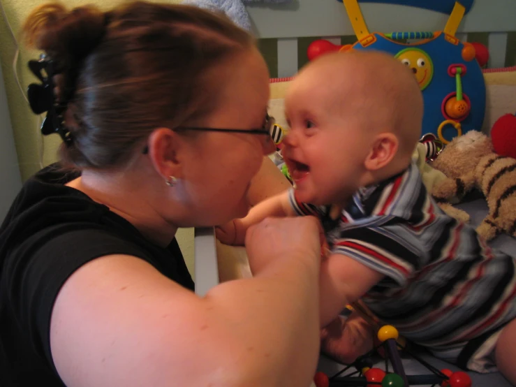
M 41 125 L 41 133 L 45 136 L 58 133 L 64 143 L 69 145 L 72 138 L 70 132 L 63 124 L 63 112 L 66 106 L 59 105 L 54 95 L 55 85 L 52 78 L 57 74 L 54 66 L 54 62 L 51 59 L 47 59 L 44 55 L 42 55 L 38 61 L 29 61 L 29 68 L 41 81 L 41 85 L 31 83 L 27 90 L 27 96 L 31 110 L 36 115 L 47 112 L 47 117 L 45 117 Z M 43 70 L 45 71 L 45 75 L 43 74 Z

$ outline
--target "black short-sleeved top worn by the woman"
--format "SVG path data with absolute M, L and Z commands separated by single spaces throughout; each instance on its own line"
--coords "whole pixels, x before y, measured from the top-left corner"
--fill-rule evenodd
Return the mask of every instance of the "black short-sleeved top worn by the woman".
M 0 227 L 0 386 L 64 386 L 50 353 L 59 289 L 100 256 L 141 258 L 193 290 L 179 245 L 149 240 L 126 219 L 64 184 L 78 173 L 54 164 L 27 180 Z

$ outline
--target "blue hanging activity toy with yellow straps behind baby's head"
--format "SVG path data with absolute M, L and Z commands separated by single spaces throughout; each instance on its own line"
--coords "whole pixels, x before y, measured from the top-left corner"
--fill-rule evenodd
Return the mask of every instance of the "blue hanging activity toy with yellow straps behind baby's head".
M 336 46 L 328 41 L 314 41 L 307 52 L 310 60 L 335 50 L 389 52 L 411 68 L 418 80 L 425 101 L 422 134 L 432 134 L 447 144 L 467 131 L 481 129 L 485 112 L 482 69 L 476 60 L 475 46 L 455 36 L 473 0 L 360 0 L 415 6 L 450 15 L 443 31 L 390 33 L 369 32 L 358 0 L 340 1 L 344 3 L 357 42 Z

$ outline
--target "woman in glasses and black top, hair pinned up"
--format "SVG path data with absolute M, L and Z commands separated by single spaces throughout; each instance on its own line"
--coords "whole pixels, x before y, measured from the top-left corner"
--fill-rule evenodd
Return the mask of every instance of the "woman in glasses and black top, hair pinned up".
M 244 216 L 274 149 L 252 38 L 198 8 L 144 2 L 50 4 L 24 31 L 46 54 L 31 63 L 44 83 L 31 106 L 64 143 L 0 229 L 1 386 L 309 385 L 316 221 L 251 229 L 255 277 L 204 298 L 174 239 Z

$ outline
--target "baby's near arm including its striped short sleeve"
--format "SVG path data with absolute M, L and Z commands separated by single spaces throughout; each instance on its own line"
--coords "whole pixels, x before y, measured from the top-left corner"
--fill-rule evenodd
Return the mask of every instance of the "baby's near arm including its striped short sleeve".
M 321 323 L 329 323 L 381 281 L 381 286 L 403 289 L 427 256 L 419 235 L 396 217 L 344 226 L 332 240 L 332 254 L 321 263 Z

